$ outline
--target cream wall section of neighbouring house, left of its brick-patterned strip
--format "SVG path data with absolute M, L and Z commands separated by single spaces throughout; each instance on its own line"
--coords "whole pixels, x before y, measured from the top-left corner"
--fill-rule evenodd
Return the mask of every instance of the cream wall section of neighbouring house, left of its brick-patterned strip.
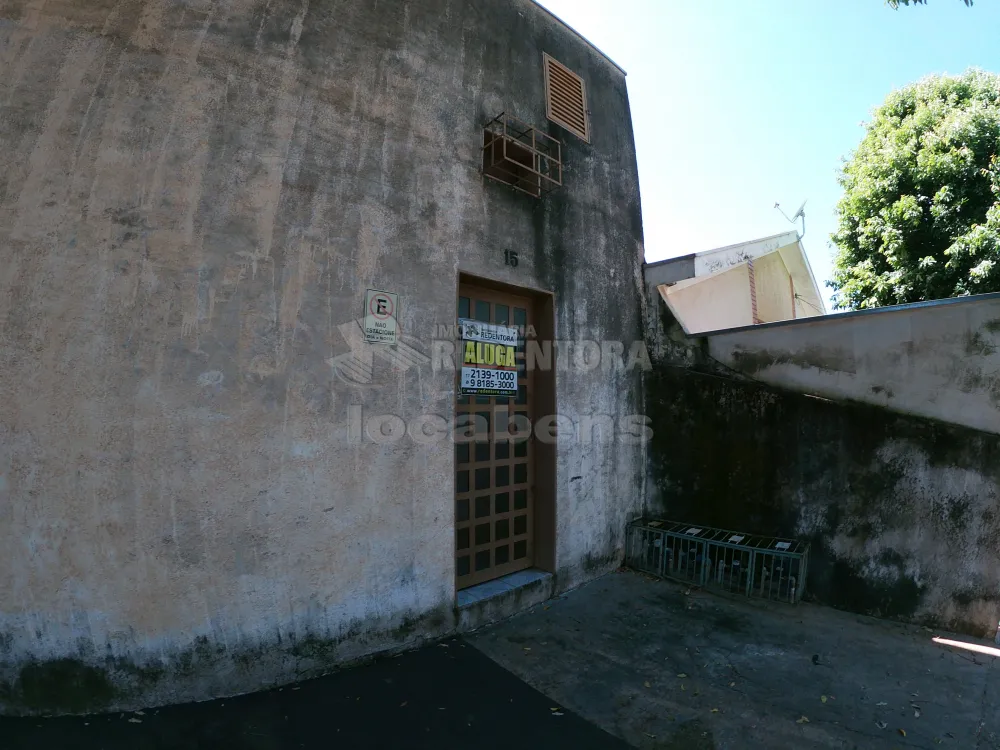
M 680 311 L 691 333 L 753 323 L 750 276 L 745 263 L 717 276 L 667 287 L 667 298 Z

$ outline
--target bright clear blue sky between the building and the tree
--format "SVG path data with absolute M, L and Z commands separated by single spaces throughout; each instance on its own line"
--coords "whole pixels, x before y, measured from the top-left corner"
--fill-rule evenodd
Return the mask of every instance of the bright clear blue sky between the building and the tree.
M 841 158 L 894 88 L 1000 72 L 1000 2 L 540 0 L 628 73 L 646 260 L 790 229 L 830 309 Z

